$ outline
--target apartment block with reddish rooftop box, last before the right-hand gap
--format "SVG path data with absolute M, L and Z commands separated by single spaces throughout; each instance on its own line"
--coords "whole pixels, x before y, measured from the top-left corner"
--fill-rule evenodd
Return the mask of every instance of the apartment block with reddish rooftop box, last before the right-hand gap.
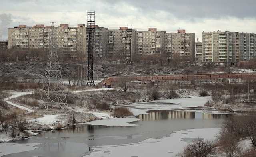
M 188 56 L 194 59 L 195 33 L 186 33 L 186 30 L 178 30 L 177 33 L 166 33 L 167 51 L 172 55 Z

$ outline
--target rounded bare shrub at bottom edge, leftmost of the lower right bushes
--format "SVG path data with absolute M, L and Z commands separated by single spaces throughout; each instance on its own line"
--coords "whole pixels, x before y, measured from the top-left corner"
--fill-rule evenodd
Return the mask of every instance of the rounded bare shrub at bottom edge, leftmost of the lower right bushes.
M 207 157 L 214 153 L 215 144 L 213 141 L 202 140 L 200 138 L 194 139 L 191 144 L 188 144 L 180 157 Z

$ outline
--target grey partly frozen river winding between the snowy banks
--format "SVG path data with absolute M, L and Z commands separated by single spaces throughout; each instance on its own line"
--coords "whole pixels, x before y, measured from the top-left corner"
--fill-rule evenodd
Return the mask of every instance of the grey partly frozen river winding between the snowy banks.
M 106 156 L 104 153 L 111 156 L 111 152 L 118 155 L 118 152 L 114 152 L 115 149 L 108 151 L 110 149 L 108 148 L 104 150 L 104 152 L 103 149 L 109 145 L 113 145 L 114 147 L 122 145 L 131 146 L 134 145 L 134 143 L 144 142 L 149 139 L 158 139 L 160 142 L 162 142 L 162 139 L 171 140 L 168 139 L 170 135 L 181 130 L 191 130 L 183 133 L 184 135 L 189 135 L 193 131 L 196 133 L 197 131 L 193 129 L 201 129 L 202 132 L 205 132 L 206 130 L 204 131 L 203 129 L 206 128 L 220 128 L 222 122 L 229 116 L 232 116 L 230 114 L 206 112 L 204 108 L 202 108 L 202 104 L 206 99 L 190 98 L 187 99 L 188 101 L 184 100 L 177 99 L 176 101 L 166 100 L 162 102 L 129 105 L 128 107 L 131 108 L 133 112 L 138 113 L 134 118 L 138 118 L 139 120 L 130 122 L 130 124 L 136 124 L 136 126 L 93 126 L 81 124 L 59 131 L 40 131 L 39 136 L 36 137 L 0 144 L 0 152 L 1 145 L 2 147 L 8 146 L 7 148 L 12 152 L 12 149 L 18 148 L 19 145 L 29 146 L 33 143 L 42 143 L 36 145 L 36 148 L 32 148 L 33 150 L 12 153 L 4 155 L 4 157 Z M 181 104 L 180 101 L 182 101 L 183 104 Z M 175 102 L 180 104 L 178 105 Z M 196 105 L 196 102 L 198 102 L 198 105 Z M 161 110 L 156 109 L 159 106 L 161 106 Z M 196 106 L 200 106 L 200 108 L 191 109 Z M 176 110 L 173 108 L 176 108 Z M 197 134 L 199 137 L 201 133 Z M 157 142 L 159 143 L 159 141 Z M 154 143 L 157 142 L 154 141 Z M 170 143 L 172 142 L 175 143 L 176 141 L 170 141 Z M 142 145 L 143 144 L 140 146 Z M 102 148 L 102 150 L 96 150 L 100 148 Z M 155 149 L 158 149 L 157 146 Z M 172 151 L 172 153 L 174 152 Z M 128 154 L 119 155 L 131 157 L 131 155 Z

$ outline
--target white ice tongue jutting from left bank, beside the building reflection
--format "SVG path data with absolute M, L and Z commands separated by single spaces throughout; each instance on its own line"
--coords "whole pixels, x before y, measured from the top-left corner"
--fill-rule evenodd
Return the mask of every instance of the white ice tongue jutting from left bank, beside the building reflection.
M 137 118 L 112 118 L 105 120 L 95 120 L 92 122 L 81 123 L 81 124 L 90 124 L 93 126 L 138 126 L 136 124 L 131 124 L 130 122 L 136 122 L 140 119 Z

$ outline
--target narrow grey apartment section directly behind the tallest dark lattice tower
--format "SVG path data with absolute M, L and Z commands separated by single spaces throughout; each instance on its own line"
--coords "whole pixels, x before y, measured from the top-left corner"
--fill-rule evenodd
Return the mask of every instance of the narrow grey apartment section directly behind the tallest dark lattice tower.
M 94 35 L 94 41 L 95 41 L 94 57 L 95 58 L 103 59 L 106 57 L 106 54 L 108 52 L 107 34 L 108 34 L 108 28 L 99 27 L 98 25 L 95 25 L 95 35 Z M 88 41 L 88 34 L 86 36 L 86 39 Z M 88 42 L 86 45 L 86 49 L 88 50 Z

